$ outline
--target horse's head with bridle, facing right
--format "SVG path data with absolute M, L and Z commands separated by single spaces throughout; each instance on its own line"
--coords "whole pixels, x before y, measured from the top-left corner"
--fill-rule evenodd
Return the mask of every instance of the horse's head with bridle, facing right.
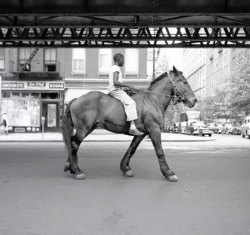
M 197 99 L 182 72 L 173 66 L 173 70 L 169 72 L 169 77 L 174 87 L 174 103 L 183 102 L 189 108 L 194 107 Z

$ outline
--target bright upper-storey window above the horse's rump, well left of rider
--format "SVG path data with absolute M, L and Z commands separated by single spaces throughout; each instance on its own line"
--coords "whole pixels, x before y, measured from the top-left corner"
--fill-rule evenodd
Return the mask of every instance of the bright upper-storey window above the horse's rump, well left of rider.
M 86 61 L 86 50 L 82 48 L 73 49 L 72 72 L 79 74 L 86 73 L 85 61 Z

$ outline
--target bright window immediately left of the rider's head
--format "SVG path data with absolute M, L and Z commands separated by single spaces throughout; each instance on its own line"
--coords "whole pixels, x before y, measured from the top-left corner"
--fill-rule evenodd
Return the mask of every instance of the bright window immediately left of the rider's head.
M 112 66 L 112 50 L 100 49 L 99 50 L 99 72 L 109 73 Z

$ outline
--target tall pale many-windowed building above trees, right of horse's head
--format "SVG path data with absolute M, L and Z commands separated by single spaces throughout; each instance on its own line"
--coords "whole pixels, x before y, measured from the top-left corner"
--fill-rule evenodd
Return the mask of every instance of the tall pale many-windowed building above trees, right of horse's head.
M 185 75 L 197 97 L 206 98 L 230 84 L 240 49 L 185 49 Z M 244 49 L 246 51 L 246 49 Z

